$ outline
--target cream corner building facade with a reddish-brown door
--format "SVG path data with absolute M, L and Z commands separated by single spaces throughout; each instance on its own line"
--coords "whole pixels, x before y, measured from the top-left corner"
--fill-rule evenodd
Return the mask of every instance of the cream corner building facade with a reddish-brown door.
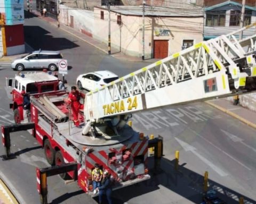
M 145 6 L 143 24 L 142 6 L 110 6 L 111 47 L 126 55 L 164 58 L 199 43 L 203 40 L 203 12 L 195 9 L 183 12 L 183 8 Z M 108 15 L 107 7 L 94 7 L 93 38 L 106 44 Z

